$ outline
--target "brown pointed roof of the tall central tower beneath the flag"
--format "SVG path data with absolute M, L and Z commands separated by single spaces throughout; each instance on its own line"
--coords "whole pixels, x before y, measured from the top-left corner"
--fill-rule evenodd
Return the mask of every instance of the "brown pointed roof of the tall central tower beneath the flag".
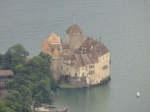
M 67 30 L 66 33 L 72 34 L 72 33 L 83 33 L 82 30 L 79 28 L 78 25 L 73 24 L 70 26 Z

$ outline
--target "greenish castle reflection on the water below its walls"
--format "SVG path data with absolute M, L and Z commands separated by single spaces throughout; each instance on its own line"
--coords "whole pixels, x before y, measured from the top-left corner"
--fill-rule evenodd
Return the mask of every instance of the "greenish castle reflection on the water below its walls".
M 55 94 L 56 107 L 68 107 L 70 112 L 107 110 L 110 83 L 90 88 L 60 90 Z M 64 99 L 65 98 L 65 99 Z M 63 104 L 63 105 L 62 105 Z

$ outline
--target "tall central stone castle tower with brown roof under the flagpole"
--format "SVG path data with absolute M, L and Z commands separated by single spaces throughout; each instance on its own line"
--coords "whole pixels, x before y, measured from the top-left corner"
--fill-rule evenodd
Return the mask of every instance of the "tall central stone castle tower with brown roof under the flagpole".
M 83 43 L 83 32 L 78 25 L 73 24 L 66 30 L 66 44 L 71 50 L 77 49 Z

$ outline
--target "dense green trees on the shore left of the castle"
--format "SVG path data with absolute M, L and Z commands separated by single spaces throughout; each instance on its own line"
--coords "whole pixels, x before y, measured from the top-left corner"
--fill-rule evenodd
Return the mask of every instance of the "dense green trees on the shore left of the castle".
M 13 70 L 15 76 L 7 80 L 8 94 L 0 100 L 0 112 L 31 112 L 31 105 L 52 104 L 51 90 L 58 88 L 52 77 L 51 57 L 40 53 L 28 59 L 28 51 L 16 44 L 0 54 L 0 69 Z

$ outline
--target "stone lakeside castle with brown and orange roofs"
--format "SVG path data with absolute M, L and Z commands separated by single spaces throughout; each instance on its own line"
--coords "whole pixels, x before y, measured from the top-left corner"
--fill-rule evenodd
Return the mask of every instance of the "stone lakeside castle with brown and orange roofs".
M 41 51 L 52 57 L 53 76 L 65 78 L 77 87 L 89 87 L 110 80 L 110 54 L 101 40 L 84 37 L 77 24 L 66 30 L 66 42 L 52 33 L 43 41 Z M 63 81 L 61 81 L 63 82 Z

